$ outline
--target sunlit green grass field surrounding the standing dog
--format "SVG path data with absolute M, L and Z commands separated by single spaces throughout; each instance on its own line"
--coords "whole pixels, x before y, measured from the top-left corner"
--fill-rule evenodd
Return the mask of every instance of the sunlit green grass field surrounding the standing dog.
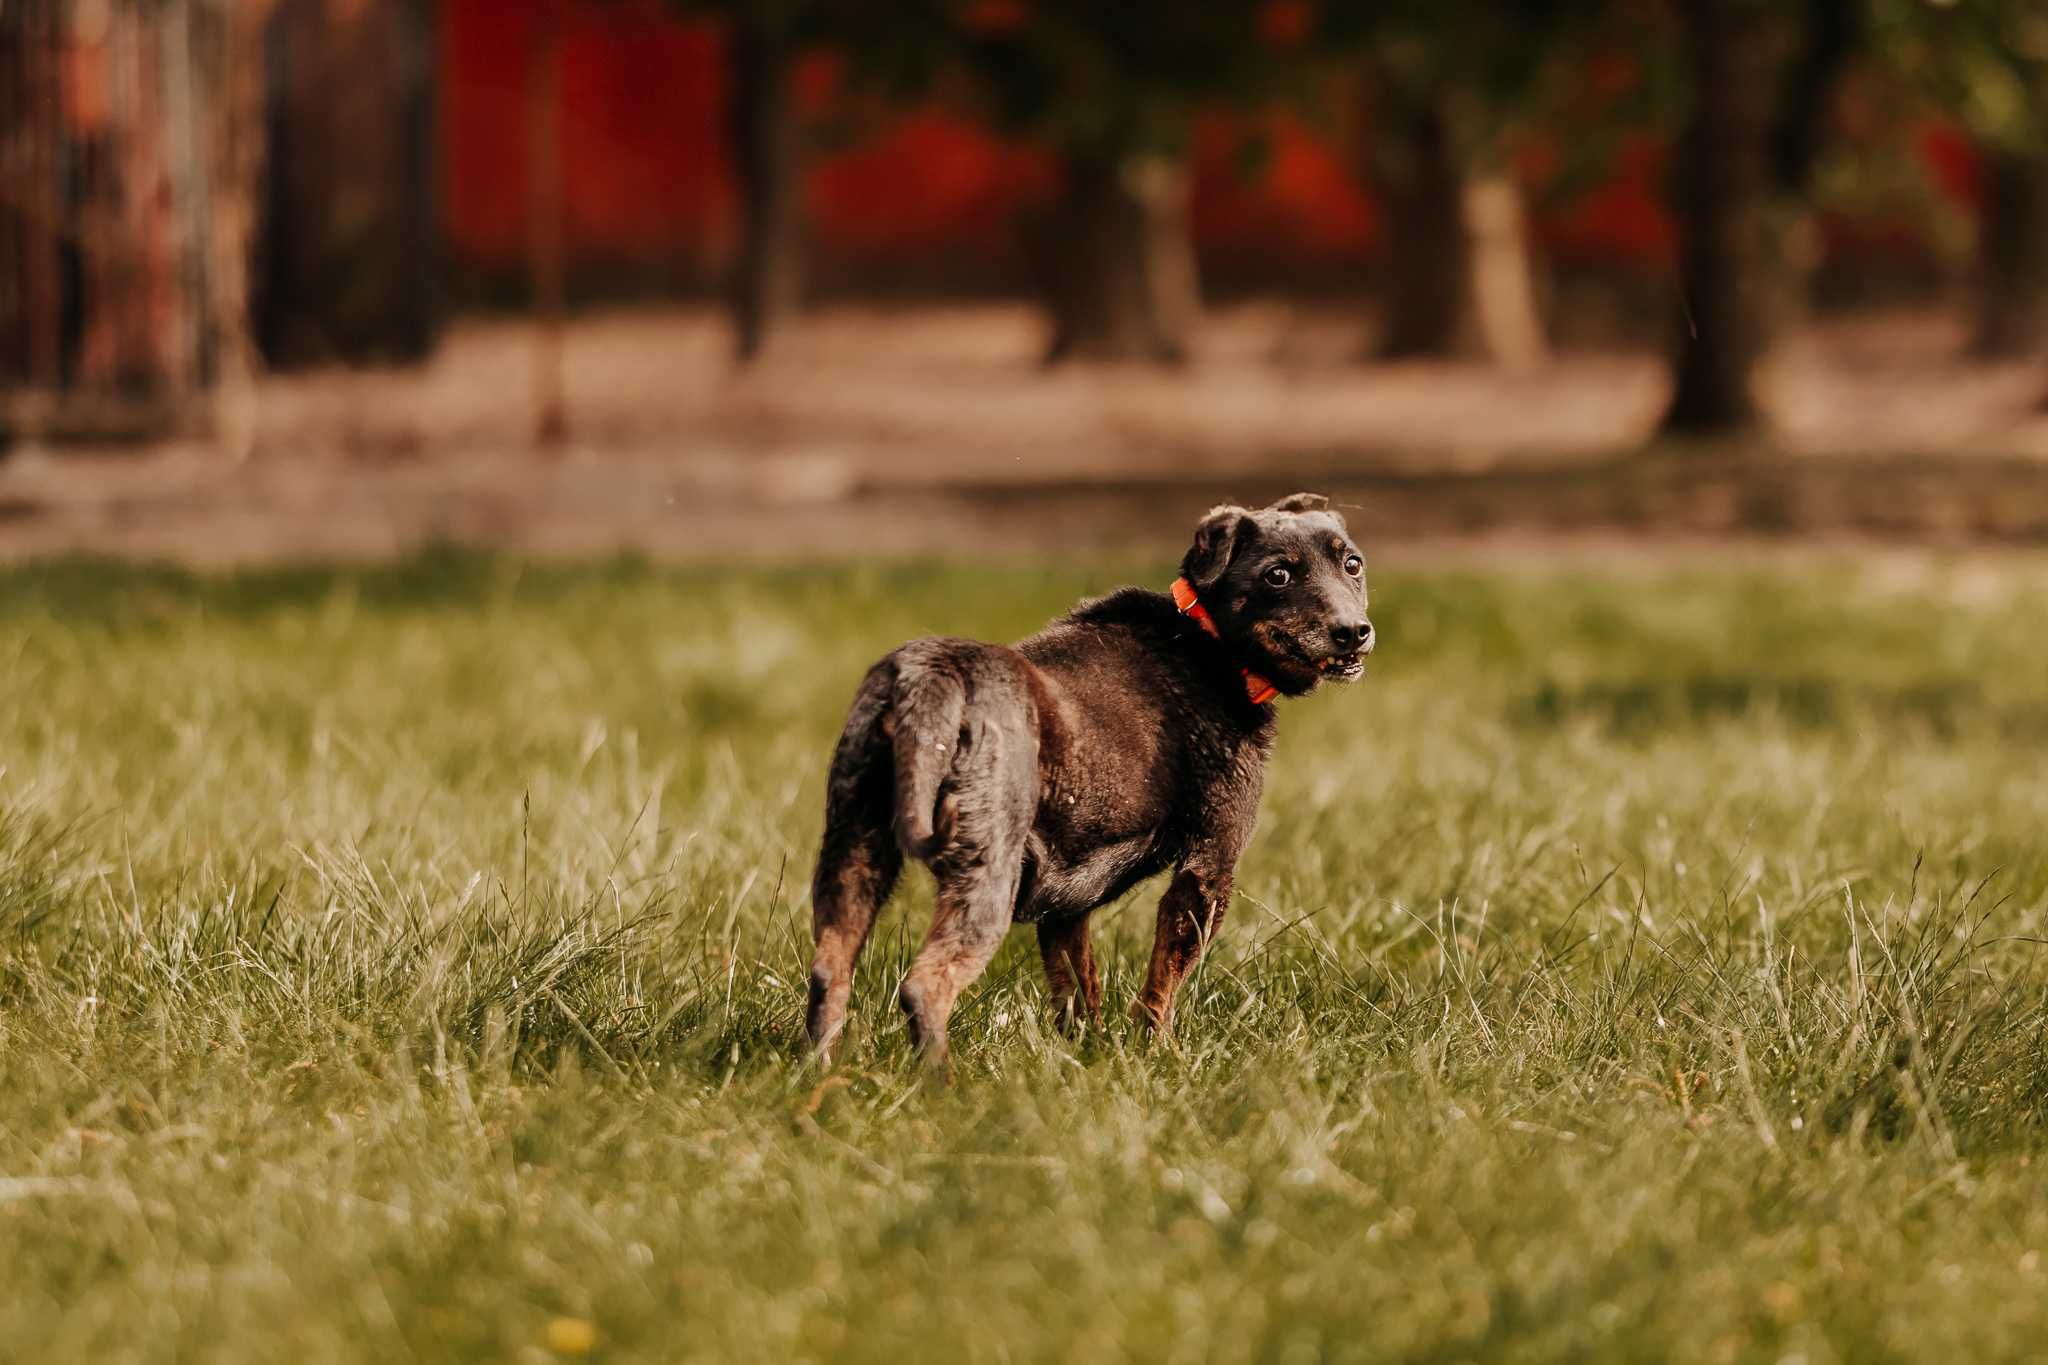
M 2048 565 L 1401 571 L 1180 1033 L 797 1050 L 909 634 L 1157 565 L 0 573 L 0 1357 L 2023 1359 Z

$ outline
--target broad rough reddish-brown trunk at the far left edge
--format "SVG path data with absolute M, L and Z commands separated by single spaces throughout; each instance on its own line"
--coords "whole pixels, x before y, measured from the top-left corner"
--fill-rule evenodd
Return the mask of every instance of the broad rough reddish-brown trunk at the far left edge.
M 0 413 L 63 440 L 197 434 L 246 325 L 233 250 L 248 4 L 0 6 Z M 59 98 L 63 96 L 63 98 Z

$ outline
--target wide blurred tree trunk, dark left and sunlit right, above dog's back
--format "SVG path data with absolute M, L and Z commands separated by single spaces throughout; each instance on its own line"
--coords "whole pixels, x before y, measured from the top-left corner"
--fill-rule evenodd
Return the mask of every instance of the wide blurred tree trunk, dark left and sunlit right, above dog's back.
M 1186 360 L 1200 323 L 1188 172 L 1165 158 L 1073 156 L 1032 229 L 1059 360 Z

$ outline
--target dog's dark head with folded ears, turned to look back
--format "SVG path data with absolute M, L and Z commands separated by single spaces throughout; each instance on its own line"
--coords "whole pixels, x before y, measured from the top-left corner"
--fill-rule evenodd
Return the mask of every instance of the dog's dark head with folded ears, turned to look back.
M 1214 508 L 1194 528 L 1180 573 L 1219 634 L 1280 692 L 1356 681 L 1372 653 L 1366 559 L 1317 493 L 1270 508 Z

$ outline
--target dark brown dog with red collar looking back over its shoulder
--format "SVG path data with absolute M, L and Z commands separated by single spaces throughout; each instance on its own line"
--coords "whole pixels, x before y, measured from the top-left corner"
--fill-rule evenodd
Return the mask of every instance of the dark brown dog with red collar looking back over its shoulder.
M 807 1031 L 829 1064 L 854 962 L 905 857 L 938 909 L 899 1003 L 946 1068 L 946 1021 L 1012 923 L 1038 929 L 1063 1029 L 1100 1025 L 1092 911 L 1171 870 L 1133 1019 L 1165 1033 L 1257 819 L 1274 702 L 1364 675 L 1366 561 L 1315 493 L 1214 508 L 1174 593 L 1124 587 L 1016 647 L 930 636 L 877 663 L 825 784 Z

